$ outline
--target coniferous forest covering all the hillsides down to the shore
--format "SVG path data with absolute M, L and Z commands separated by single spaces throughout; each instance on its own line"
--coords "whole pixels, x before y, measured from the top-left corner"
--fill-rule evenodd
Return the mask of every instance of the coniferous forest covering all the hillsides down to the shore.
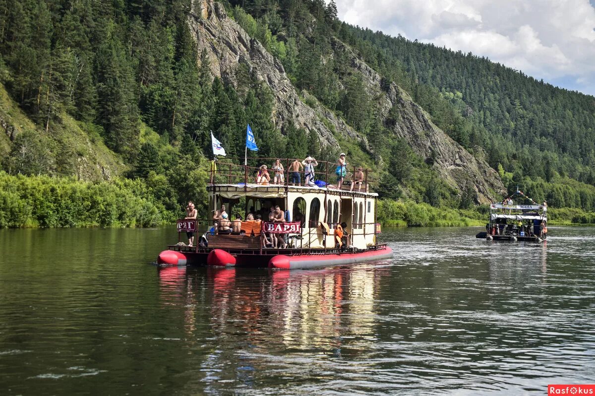
M 409 221 L 395 200 L 463 217 L 479 218 L 485 208 L 390 134 L 387 122 L 399 114 L 380 120 L 337 42 L 485 159 L 509 193 L 519 186 L 552 208 L 572 208 L 560 210 L 560 220 L 593 222 L 593 96 L 473 54 L 350 26 L 334 1 L 222 4 L 283 64 L 306 104 L 313 95 L 368 139 L 368 150 L 348 141 L 341 149 L 379 172 L 385 208 L 399 208 L 393 220 L 432 222 Z M 189 199 L 206 215 L 210 131 L 230 156 L 243 155 L 248 123 L 259 156 L 325 156 L 314 134 L 275 127 L 265 83 L 249 73 L 235 87 L 212 78 L 187 24 L 191 7 L 190 0 L 0 0 L 0 227 L 155 225 L 176 218 Z M 89 202 L 93 213 L 60 214 Z M 149 214 L 131 214 L 139 205 Z

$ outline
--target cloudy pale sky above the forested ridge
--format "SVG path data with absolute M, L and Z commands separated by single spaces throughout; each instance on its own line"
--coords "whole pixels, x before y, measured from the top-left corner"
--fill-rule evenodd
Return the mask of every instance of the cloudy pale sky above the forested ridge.
M 339 18 L 595 95 L 595 0 L 335 0 Z

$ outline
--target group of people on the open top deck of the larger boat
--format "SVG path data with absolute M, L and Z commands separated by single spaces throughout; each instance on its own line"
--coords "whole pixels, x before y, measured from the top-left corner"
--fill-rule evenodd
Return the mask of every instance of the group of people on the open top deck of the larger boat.
M 308 156 L 303 161 L 299 161 L 299 159 L 295 159 L 290 165 L 287 171 L 290 175 L 290 180 L 287 180 L 292 186 L 301 186 L 302 185 L 302 171 L 304 176 L 304 186 L 312 186 L 315 187 L 315 171 L 314 167 L 318 165 L 318 161 L 311 156 Z M 345 153 L 341 153 L 339 155 L 339 159 L 337 159 L 337 168 L 335 170 L 335 174 L 337 176 L 337 188 L 342 189 L 343 181 L 347 175 L 347 161 L 345 159 Z M 256 184 L 284 184 L 285 183 L 285 169 L 281 164 L 281 160 L 275 160 L 275 164 L 271 167 L 271 171 L 273 172 L 273 181 L 271 181 L 271 173 L 269 172 L 269 168 L 267 165 L 261 165 L 255 175 L 255 183 Z M 362 189 L 362 183 L 364 183 L 364 169 L 359 166 L 356 168 L 355 172 L 353 173 L 353 177 L 351 179 L 351 186 L 349 188 L 350 191 L 353 191 L 353 188 L 357 185 L 358 191 Z

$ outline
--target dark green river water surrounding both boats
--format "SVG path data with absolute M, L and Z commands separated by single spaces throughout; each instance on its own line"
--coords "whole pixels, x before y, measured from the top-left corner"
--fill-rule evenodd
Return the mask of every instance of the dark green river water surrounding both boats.
M 0 230 L 0 394 L 546 394 L 595 380 L 595 229 L 385 232 L 396 257 L 152 265 L 172 230 Z

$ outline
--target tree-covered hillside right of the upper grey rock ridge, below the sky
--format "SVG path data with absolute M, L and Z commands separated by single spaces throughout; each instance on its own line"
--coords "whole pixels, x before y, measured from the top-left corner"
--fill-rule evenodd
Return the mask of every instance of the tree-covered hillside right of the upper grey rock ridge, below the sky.
M 400 121 L 399 114 L 383 122 L 378 119 L 375 98 L 365 92 L 361 76 L 350 70 L 334 37 L 378 71 L 381 84 L 399 84 L 436 125 L 486 159 L 509 191 L 519 186 L 554 205 L 595 208 L 593 96 L 553 87 L 486 58 L 341 23 L 334 1 L 325 5 L 322 0 L 229 0 L 229 4 L 236 7 L 236 20 L 283 61 L 297 87 L 314 93 L 367 134 L 374 150 L 389 159 L 389 168 L 398 170 L 389 175 L 396 173 L 393 180 L 398 183 L 411 183 L 409 170 L 419 166 L 402 161 L 408 156 L 399 153 L 402 147 L 392 139 L 390 124 Z M 577 188 L 582 191 L 577 193 L 579 199 L 562 193 Z M 436 202 L 431 188 L 423 199 Z

